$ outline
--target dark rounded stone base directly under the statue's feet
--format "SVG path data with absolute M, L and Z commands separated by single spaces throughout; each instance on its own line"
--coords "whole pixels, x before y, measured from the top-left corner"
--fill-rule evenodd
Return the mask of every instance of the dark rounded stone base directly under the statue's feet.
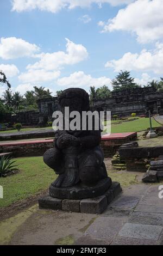
M 49 196 L 59 199 L 85 199 L 102 196 L 106 190 L 111 186 L 111 179 L 105 178 L 97 183 L 96 186 L 87 187 L 79 184 L 73 187 L 49 187 Z

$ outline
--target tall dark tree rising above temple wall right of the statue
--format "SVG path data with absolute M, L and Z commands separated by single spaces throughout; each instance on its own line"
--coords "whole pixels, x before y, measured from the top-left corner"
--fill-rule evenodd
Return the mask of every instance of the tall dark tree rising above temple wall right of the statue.
M 113 90 L 131 89 L 139 87 L 134 83 L 135 78 L 130 77 L 129 71 L 120 71 L 119 74 L 112 80 Z

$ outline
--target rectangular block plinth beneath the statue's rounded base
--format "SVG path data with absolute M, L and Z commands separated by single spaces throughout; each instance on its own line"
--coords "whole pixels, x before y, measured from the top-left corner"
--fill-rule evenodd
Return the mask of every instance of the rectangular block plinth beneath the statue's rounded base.
M 102 196 L 78 200 L 58 199 L 46 196 L 39 199 L 40 209 L 62 210 L 69 212 L 81 212 L 86 214 L 102 214 L 114 198 L 121 193 L 120 183 L 112 182 L 109 190 Z

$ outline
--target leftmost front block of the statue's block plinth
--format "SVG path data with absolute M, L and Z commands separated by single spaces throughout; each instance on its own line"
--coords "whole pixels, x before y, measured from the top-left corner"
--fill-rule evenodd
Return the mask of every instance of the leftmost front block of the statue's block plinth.
M 46 196 L 39 199 L 39 208 L 61 210 L 61 201 L 61 199 Z

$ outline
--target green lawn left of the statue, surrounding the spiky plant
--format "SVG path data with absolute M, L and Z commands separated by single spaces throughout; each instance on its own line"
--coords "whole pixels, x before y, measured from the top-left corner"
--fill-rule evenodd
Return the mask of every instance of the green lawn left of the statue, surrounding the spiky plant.
M 1 208 L 46 190 L 57 178 L 53 170 L 43 163 L 42 156 L 21 157 L 15 160 L 20 173 L 0 178 L 0 185 L 3 186 Z

